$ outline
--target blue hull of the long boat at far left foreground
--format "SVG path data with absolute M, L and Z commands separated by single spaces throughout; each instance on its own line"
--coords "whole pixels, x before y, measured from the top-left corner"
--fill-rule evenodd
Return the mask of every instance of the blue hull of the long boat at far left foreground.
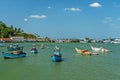
M 26 53 L 19 53 L 19 54 L 13 54 L 13 53 L 5 53 L 2 52 L 2 56 L 6 59 L 6 58 L 22 58 L 22 57 L 26 57 Z

